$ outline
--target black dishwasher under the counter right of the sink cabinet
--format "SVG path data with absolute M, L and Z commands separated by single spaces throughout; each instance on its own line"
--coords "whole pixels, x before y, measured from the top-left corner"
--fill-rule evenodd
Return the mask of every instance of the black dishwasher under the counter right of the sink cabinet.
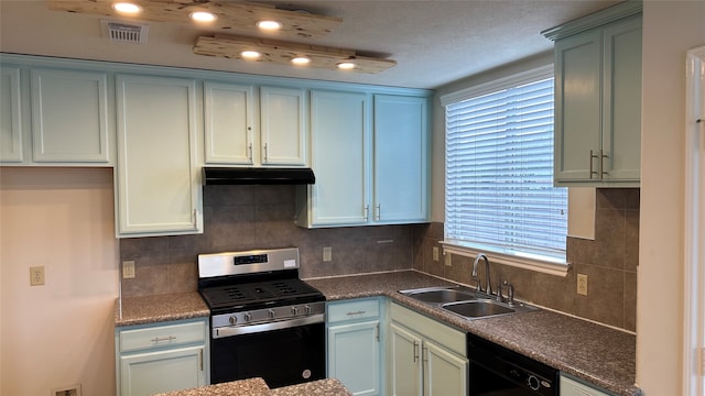
M 558 371 L 467 334 L 470 396 L 558 396 Z

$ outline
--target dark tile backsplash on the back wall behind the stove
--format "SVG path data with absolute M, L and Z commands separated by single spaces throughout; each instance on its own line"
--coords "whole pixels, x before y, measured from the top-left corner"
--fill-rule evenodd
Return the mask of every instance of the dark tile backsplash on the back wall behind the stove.
M 308 230 L 294 213 L 294 186 L 204 186 L 203 234 L 120 240 L 121 261 L 135 262 L 122 295 L 196 290 L 199 253 L 299 246 L 303 278 L 411 268 L 413 226 Z

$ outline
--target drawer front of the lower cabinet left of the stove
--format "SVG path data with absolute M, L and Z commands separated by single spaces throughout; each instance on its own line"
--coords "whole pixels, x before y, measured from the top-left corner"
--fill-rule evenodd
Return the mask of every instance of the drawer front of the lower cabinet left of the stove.
M 120 331 L 120 352 L 176 346 L 206 341 L 206 322 L 152 326 Z

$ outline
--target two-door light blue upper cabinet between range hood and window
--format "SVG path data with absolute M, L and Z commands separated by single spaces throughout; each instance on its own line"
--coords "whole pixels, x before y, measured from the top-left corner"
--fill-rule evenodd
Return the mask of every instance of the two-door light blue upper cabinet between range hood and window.
M 425 97 L 314 90 L 311 108 L 316 184 L 299 188 L 297 224 L 427 221 Z

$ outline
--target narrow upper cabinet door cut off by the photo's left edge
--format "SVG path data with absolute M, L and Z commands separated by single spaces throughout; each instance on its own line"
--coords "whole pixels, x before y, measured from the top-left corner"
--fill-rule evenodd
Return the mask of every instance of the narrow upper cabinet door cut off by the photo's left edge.
M 22 135 L 22 95 L 20 69 L 0 69 L 0 162 L 7 165 L 25 161 Z

